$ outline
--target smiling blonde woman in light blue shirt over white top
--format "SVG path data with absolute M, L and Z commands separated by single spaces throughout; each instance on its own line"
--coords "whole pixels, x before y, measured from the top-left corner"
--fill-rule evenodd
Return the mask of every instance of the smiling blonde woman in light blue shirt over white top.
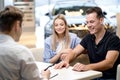
M 69 32 L 64 15 L 59 14 L 53 21 L 53 34 L 45 40 L 44 62 L 60 62 L 80 41 L 76 34 Z

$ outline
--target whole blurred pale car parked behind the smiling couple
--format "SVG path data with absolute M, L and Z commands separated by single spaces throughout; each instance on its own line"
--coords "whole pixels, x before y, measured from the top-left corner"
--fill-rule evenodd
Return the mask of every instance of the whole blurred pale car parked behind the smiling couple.
M 50 13 L 50 21 L 45 25 L 45 38 L 52 34 L 53 19 L 57 14 L 64 14 L 69 30 L 78 34 L 80 38 L 88 33 L 86 31 L 85 12 L 90 7 L 95 7 L 97 4 L 94 0 L 82 0 L 82 1 L 59 1 L 57 2 Z M 106 12 L 104 12 L 107 15 Z M 106 17 L 104 24 L 107 29 L 114 31 L 114 27 L 111 26 L 110 20 Z

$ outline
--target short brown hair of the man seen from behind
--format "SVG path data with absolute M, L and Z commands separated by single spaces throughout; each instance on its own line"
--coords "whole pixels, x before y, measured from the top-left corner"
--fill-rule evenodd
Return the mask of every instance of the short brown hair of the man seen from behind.
M 14 6 L 6 6 L 0 11 L 0 31 L 10 32 L 15 21 L 23 21 L 23 12 Z

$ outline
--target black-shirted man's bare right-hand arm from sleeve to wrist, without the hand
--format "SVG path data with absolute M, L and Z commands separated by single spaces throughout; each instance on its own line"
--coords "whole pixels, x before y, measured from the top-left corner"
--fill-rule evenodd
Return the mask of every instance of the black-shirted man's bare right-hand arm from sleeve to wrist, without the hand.
M 100 61 L 100 62 L 95 63 L 95 64 L 89 64 L 87 66 L 88 66 L 88 68 L 93 69 L 93 70 L 104 71 L 104 70 L 107 70 L 107 69 L 110 69 L 113 67 L 118 56 L 119 56 L 118 51 L 110 50 L 107 52 L 105 60 Z

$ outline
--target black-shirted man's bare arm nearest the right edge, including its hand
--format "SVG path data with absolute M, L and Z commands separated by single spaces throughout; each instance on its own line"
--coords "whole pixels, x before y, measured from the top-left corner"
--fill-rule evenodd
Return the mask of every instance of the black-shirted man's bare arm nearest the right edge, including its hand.
M 98 63 L 84 65 L 81 63 L 75 64 L 73 70 L 85 71 L 85 70 L 99 70 L 104 71 L 113 67 L 115 61 L 119 56 L 119 52 L 115 50 L 110 50 L 107 52 L 106 58 Z

